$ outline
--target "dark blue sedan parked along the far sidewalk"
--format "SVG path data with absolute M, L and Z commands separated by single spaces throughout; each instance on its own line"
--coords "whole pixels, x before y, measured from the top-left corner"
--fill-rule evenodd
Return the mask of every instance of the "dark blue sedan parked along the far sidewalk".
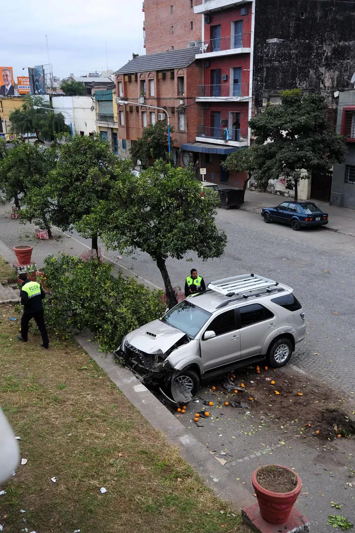
M 283 201 L 276 207 L 263 207 L 261 216 L 264 222 L 284 222 L 295 231 L 306 228 L 319 228 L 328 224 L 328 214 L 323 213 L 310 201 Z

